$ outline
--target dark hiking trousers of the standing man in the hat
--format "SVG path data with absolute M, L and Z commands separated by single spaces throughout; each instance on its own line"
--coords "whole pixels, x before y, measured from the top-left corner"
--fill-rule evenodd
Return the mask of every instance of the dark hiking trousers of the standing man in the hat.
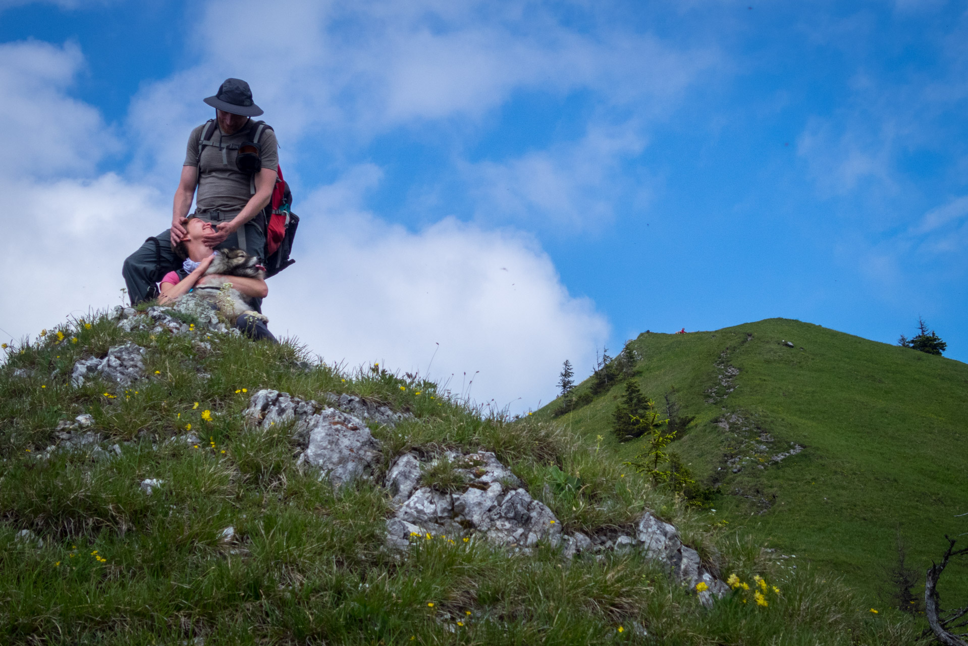
M 223 216 L 218 211 L 199 213 L 198 217 L 208 222 L 224 222 L 235 215 Z M 239 245 L 238 231 L 230 233 L 226 240 L 216 249 L 239 248 L 244 249 L 250 256 L 256 256 L 261 262 L 265 259 L 265 229 L 262 226 L 263 216 L 258 214 L 245 224 L 245 246 Z M 154 237 L 144 241 L 141 248 L 124 261 L 121 275 L 128 285 L 128 296 L 131 304 L 136 305 L 142 300 L 150 300 L 158 296 L 158 283 L 165 278 L 169 271 L 180 269 L 182 260 L 175 256 L 171 248 L 171 230 L 166 229 Z M 261 312 L 262 299 L 254 298 L 257 312 Z

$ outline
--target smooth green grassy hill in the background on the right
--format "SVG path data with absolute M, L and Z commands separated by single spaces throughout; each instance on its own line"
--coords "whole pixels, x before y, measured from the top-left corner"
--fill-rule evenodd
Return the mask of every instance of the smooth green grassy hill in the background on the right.
M 954 517 L 968 512 L 968 365 L 784 319 L 643 333 L 632 346 L 643 392 L 658 403 L 672 393 L 696 416 L 670 448 L 720 486 L 716 517 L 796 563 L 841 573 L 876 604 L 898 527 L 922 573 L 945 533 L 968 532 L 968 517 Z M 615 385 L 560 422 L 628 460 L 642 442 L 611 432 L 623 392 Z M 802 451 L 772 463 L 791 443 Z M 968 569 L 946 576 L 949 594 L 968 597 Z

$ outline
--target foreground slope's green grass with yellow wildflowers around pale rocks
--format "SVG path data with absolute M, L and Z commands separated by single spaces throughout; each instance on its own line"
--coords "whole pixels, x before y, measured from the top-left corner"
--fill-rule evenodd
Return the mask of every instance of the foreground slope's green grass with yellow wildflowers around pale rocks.
M 651 488 L 608 446 L 557 423 L 513 422 L 376 366 L 306 369 L 310 358 L 293 342 L 153 338 L 122 333 L 104 317 L 63 325 L 63 340 L 57 331 L 9 349 L 0 366 L 0 643 L 914 640 L 909 623 L 870 613 L 823 572 L 784 568 L 742 533 Z M 77 358 L 129 339 L 149 350 L 146 380 L 128 389 L 68 385 Z M 408 410 L 415 420 L 375 429 L 382 469 L 410 449 L 494 450 L 566 531 L 627 528 L 649 507 L 676 523 L 709 567 L 750 583 L 763 576 L 781 594 L 769 592 L 770 605 L 758 607 L 738 591 L 706 609 L 641 556 L 565 563 L 547 544 L 526 555 L 476 539 L 415 538 L 405 554 L 387 551 L 381 474 L 334 491 L 297 468 L 290 429 L 242 419 L 260 387 L 318 401 L 349 392 Z M 121 455 L 39 459 L 58 421 L 80 413 L 93 415 L 92 430 Z M 168 442 L 190 424 L 199 445 Z M 459 485 L 443 466 L 425 476 Z M 138 486 L 145 478 L 163 483 L 147 496 Z M 226 541 L 229 526 L 235 538 Z M 43 546 L 17 540 L 22 530 Z

